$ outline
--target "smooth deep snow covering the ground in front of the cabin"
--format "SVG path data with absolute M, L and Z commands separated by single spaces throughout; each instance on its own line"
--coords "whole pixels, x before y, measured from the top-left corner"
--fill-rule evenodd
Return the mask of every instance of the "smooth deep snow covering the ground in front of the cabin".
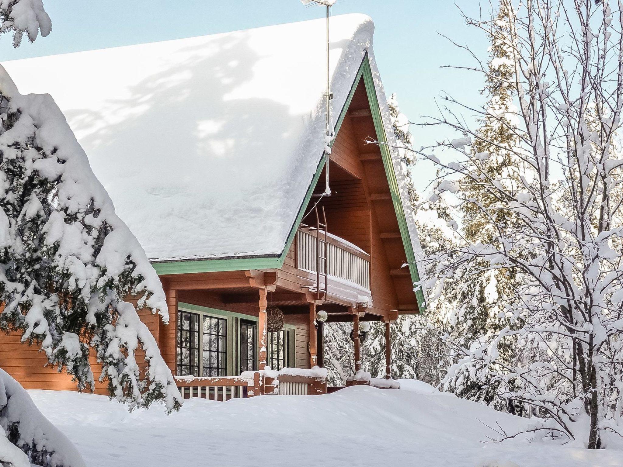
M 623 450 L 589 451 L 525 439 L 483 443 L 496 423 L 525 420 L 436 392 L 351 387 L 321 396 L 187 400 L 128 413 L 106 397 L 29 391 L 74 441 L 89 467 L 206 466 L 623 466 Z

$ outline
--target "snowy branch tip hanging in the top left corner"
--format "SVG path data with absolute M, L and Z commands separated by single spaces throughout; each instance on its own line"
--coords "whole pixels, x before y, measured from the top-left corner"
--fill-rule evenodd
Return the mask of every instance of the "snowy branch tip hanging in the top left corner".
M 52 31 L 52 21 L 42 0 L 0 0 L 0 33 L 13 32 L 13 46 L 19 47 L 24 34 L 34 42 Z

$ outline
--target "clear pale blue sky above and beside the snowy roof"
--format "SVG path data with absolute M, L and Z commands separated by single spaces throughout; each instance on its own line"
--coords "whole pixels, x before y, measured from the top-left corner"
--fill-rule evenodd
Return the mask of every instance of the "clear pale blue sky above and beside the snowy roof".
M 324 10 L 299 0 L 44 0 L 52 33 L 34 44 L 12 49 L 0 39 L 0 60 L 103 49 L 118 45 L 179 39 L 322 17 Z M 477 0 L 338 0 L 333 14 L 363 12 L 375 24 L 374 53 L 386 92 L 396 92 L 401 110 L 412 121 L 438 115 L 435 98 L 448 92 L 479 103 L 482 80 L 443 65 L 466 64 L 465 54 L 439 34 L 469 44 L 486 57 L 487 40 L 464 26 L 459 7 L 478 13 Z M 488 2 L 483 8 L 488 7 Z M 465 115 L 470 120 L 470 116 Z M 412 128 L 416 146 L 452 134 L 441 128 Z M 420 164 L 414 172 L 424 189 L 433 171 Z

